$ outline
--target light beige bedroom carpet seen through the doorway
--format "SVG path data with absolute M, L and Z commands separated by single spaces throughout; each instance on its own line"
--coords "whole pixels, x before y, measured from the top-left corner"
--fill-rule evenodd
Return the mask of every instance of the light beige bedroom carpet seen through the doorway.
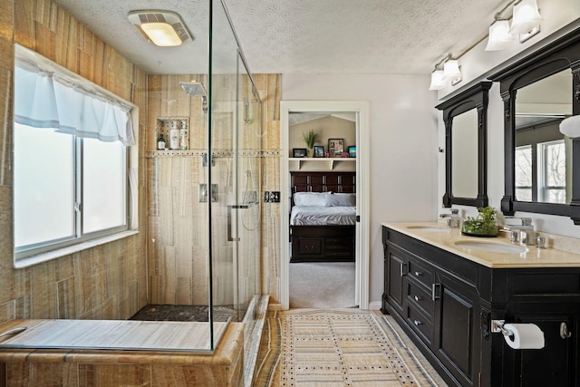
M 290 264 L 290 308 L 348 308 L 354 305 L 354 262 Z

